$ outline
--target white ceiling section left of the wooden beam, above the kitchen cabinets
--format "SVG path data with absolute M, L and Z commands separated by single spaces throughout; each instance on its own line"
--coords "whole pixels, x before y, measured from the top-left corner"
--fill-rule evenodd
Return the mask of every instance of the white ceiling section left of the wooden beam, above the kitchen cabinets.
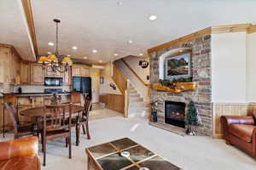
M 21 58 L 34 60 L 26 18 L 18 0 L 0 0 L 0 43 L 14 45 Z

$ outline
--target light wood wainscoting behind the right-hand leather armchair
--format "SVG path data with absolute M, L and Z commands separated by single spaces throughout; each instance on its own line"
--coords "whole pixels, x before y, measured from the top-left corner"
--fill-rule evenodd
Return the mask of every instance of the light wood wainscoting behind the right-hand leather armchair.
M 247 116 L 247 103 L 228 104 L 213 103 L 212 104 L 212 138 L 221 139 L 223 137 L 223 127 L 220 122 L 220 116 Z

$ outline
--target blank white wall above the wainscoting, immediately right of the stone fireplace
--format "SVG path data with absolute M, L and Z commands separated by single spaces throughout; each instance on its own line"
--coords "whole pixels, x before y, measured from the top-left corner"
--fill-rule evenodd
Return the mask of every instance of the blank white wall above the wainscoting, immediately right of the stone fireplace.
M 213 34 L 211 45 L 212 102 L 246 102 L 246 32 Z

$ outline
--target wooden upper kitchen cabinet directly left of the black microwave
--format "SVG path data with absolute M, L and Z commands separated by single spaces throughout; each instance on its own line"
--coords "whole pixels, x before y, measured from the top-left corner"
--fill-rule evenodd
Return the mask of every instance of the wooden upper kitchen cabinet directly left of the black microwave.
M 31 84 L 44 85 L 44 68 L 43 65 L 32 63 L 31 65 Z

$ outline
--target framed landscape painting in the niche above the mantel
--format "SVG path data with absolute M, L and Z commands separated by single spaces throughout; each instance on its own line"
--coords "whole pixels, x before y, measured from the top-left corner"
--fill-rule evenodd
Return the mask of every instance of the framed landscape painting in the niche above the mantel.
M 166 58 L 165 61 L 165 78 L 187 78 L 191 77 L 190 54 L 182 54 Z

